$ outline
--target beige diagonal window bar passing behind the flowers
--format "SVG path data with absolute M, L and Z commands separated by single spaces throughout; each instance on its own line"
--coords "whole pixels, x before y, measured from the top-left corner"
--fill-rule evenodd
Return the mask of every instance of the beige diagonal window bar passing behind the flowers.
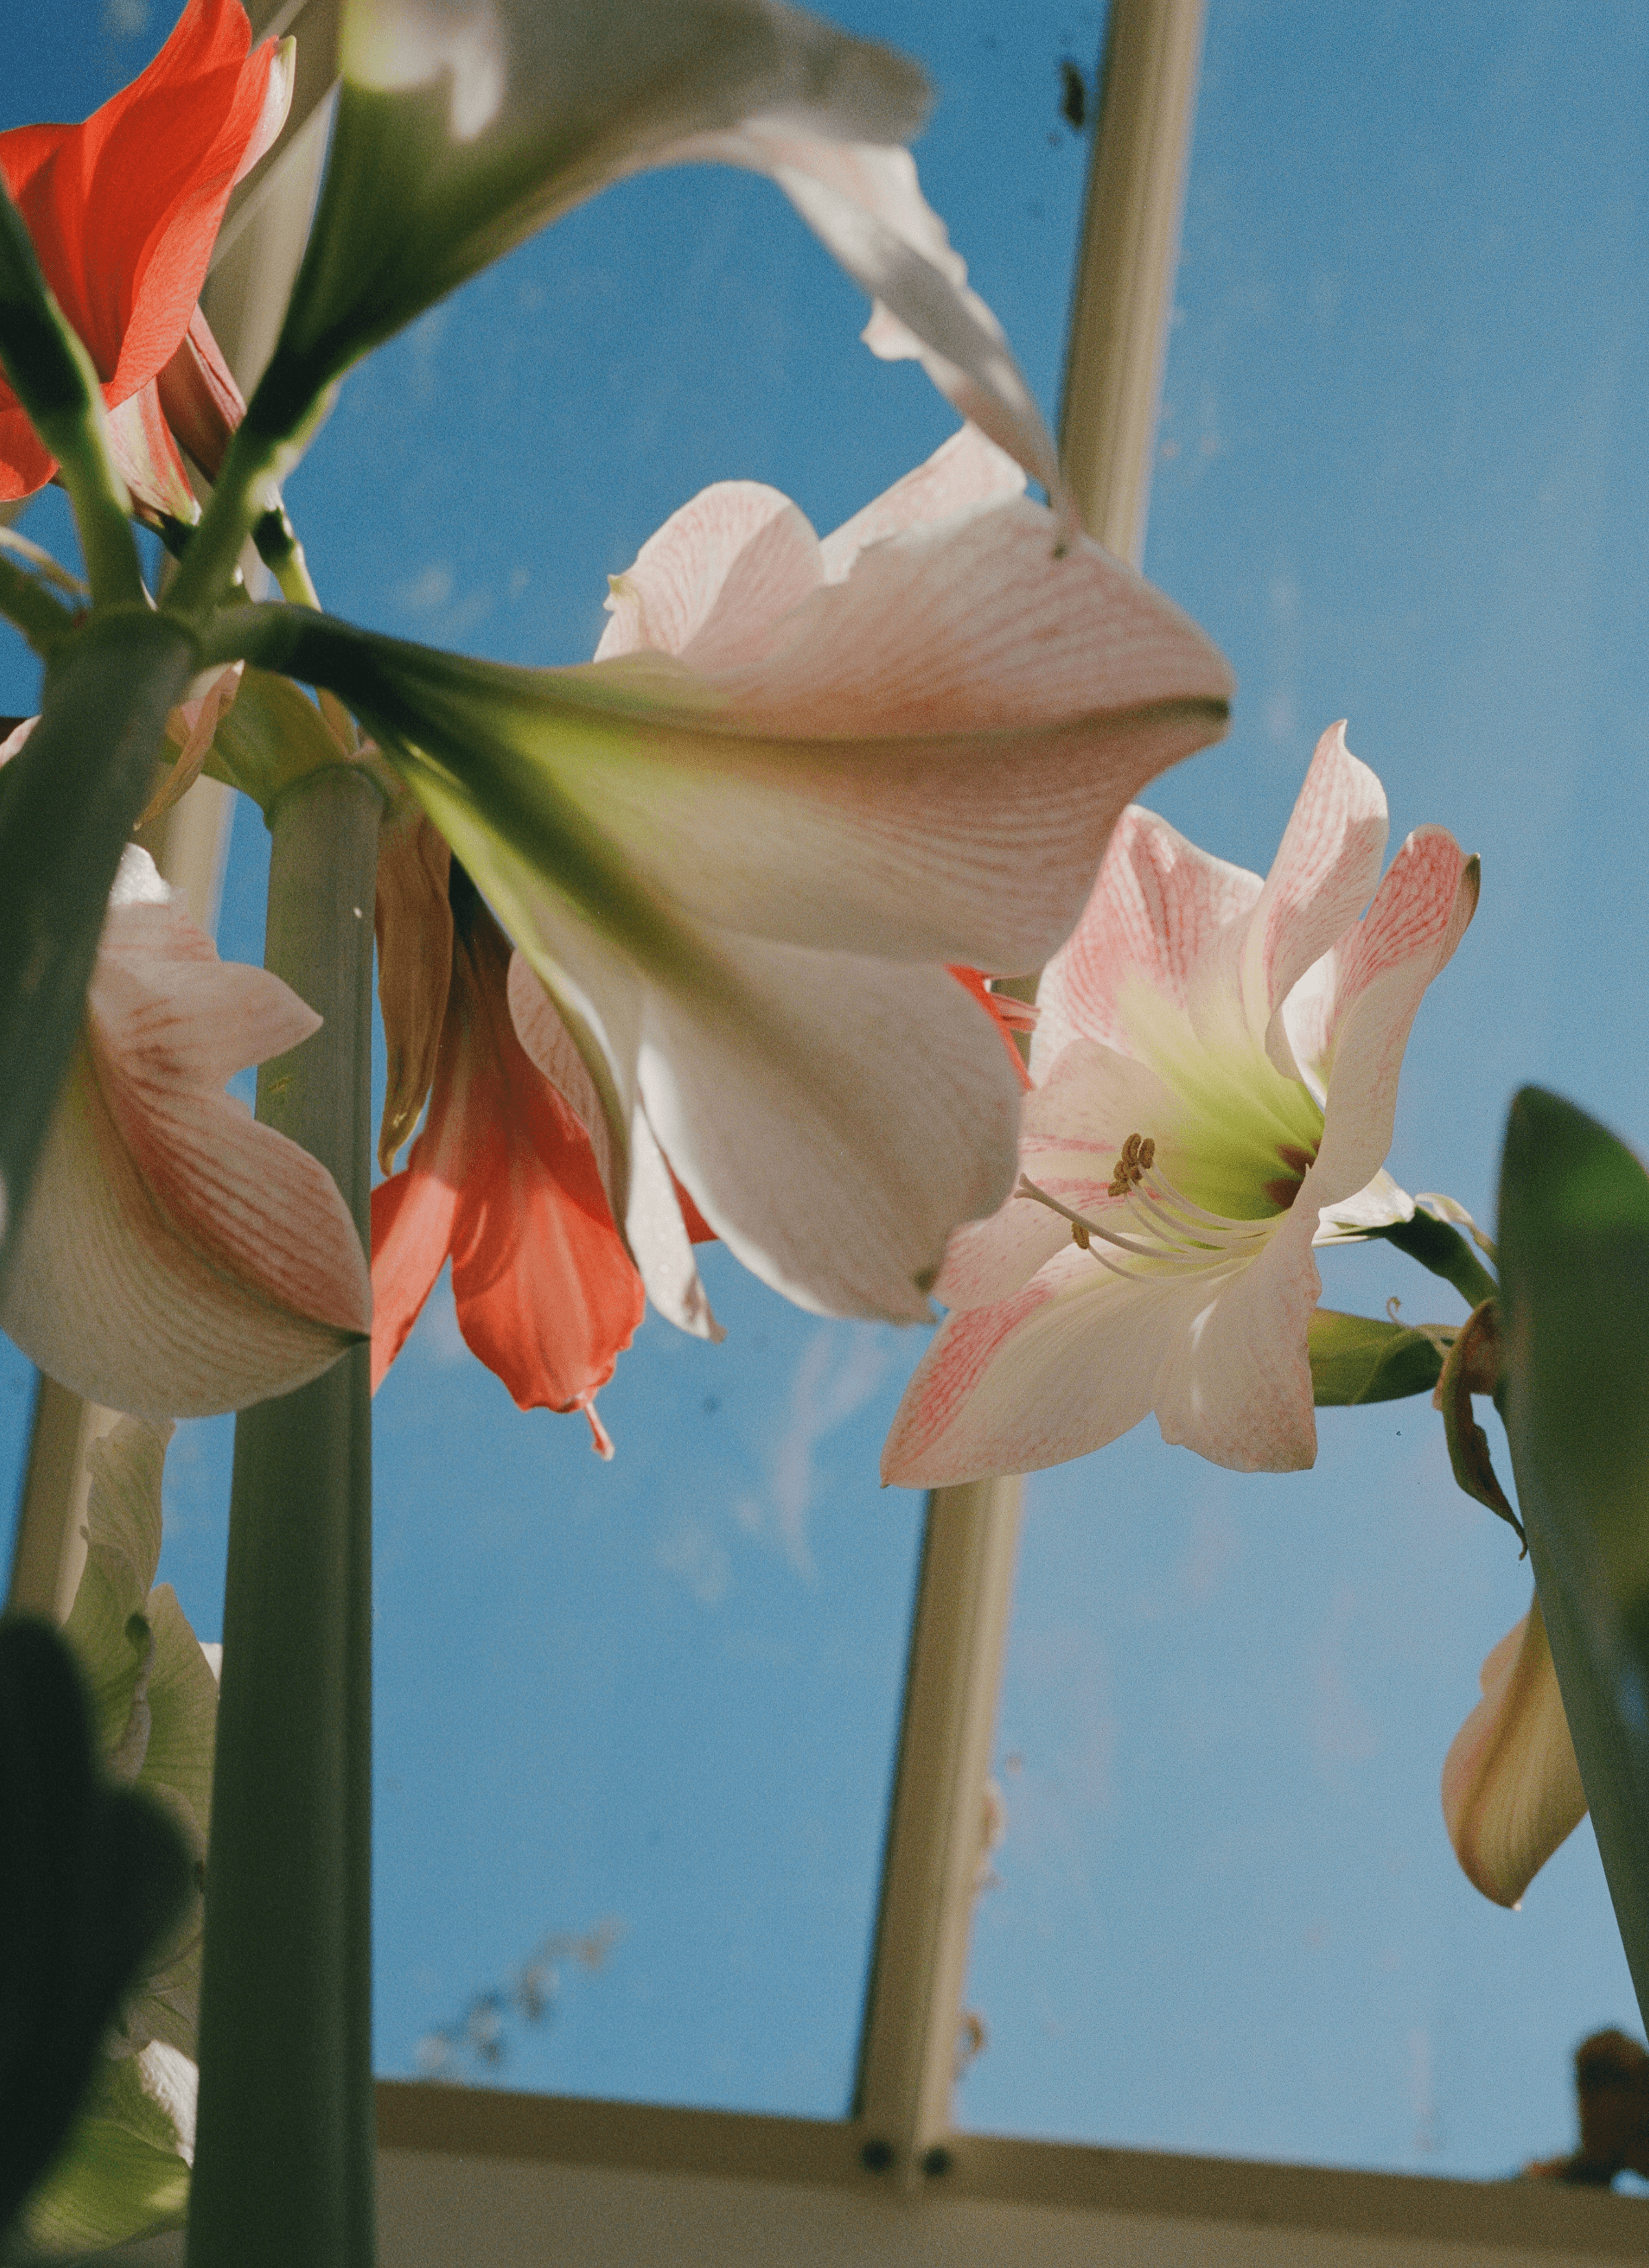
M 1200 54 L 1202 0 L 1111 0 L 1059 454 L 1086 531 L 1134 565 L 1145 542 Z M 1014 1476 L 928 1499 L 853 2100 L 864 2164 L 905 2191 L 944 2182 L 953 2164 L 950 2096 L 989 1848 L 989 1755 L 1021 1499 Z

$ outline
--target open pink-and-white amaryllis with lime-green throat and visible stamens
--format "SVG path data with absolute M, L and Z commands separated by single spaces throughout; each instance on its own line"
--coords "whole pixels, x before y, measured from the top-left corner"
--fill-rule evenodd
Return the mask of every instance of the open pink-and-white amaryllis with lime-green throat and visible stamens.
M 1477 907 L 1443 828 L 1379 880 L 1384 846 L 1341 726 L 1263 882 L 1123 816 L 1041 982 L 1018 1193 L 950 1241 L 887 1481 L 1059 1465 L 1148 1411 L 1238 1472 L 1316 1458 L 1311 1247 L 1413 1211 L 1384 1173 L 1397 1070 Z

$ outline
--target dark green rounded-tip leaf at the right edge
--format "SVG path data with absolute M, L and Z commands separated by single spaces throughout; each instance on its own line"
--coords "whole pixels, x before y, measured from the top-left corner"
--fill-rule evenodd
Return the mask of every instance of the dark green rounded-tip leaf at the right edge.
M 1499 1259 L 1517 1499 L 1649 2014 L 1649 1175 L 1538 1086 L 1506 1123 Z

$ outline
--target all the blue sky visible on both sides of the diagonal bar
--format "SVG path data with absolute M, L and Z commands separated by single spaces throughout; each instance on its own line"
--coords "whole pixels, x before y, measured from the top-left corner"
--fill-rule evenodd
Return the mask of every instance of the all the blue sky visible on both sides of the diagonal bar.
M 159 0 L 77 14 L 79 45 L 23 48 L 7 122 L 82 113 L 166 27 Z M 1098 11 L 835 14 L 928 64 L 928 195 L 1052 413 L 1086 161 L 1057 64 L 1091 68 Z M 1229 742 L 1150 801 L 1263 871 L 1350 714 L 1393 846 L 1440 821 L 1481 850 L 1390 1161 L 1481 1218 L 1522 1080 L 1649 1125 L 1622 948 L 1649 778 L 1647 61 L 1626 5 L 1579 43 L 1545 0 L 1209 0 L 1148 569 L 1241 694 Z M 823 531 L 950 431 L 862 320 L 764 184 L 626 184 L 345 386 L 288 490 L 322 594 L 399 635 L 585 658 L 606 574 L 705 481 L 773 481 Z M 57 526 L 48 499 L 32 531 Z M 27 703 L 0 651 L 0 708 Z M 238 957 L 261 832 L 243 812 Z M 553 2021 L 515 2028 L 506 2082 L 846 2102 L 919 1535 L 876 1449 L 919 1334 L 819 1325 L 712 1261 L 730 1340 L 649 1322 L 603 1395 L 612 1467 L 578 1422 L 510 1408 L 445 1290 L 379 1399 L 388 2073 L 540 1939 L 612 1919 L 606 1964 L 563 1964 Z M 1456 1313 L 1379 1252 L 1327 1295 Z M 11 1363 L 0 1427 L 18 1408 Z M 163 1572 L 202 1635 L 227 1431 L 181 1429 L 168 1465 Z M 1590 1833 L 1502 1914 L 1436 1805 L 1527 1594 L 1422 1402 L 1325 1413 L 1311 1474 L 1223 1474 L 1148 1424 L 1034 1481 L 964 2121 L 1461 2173 L 1563 2146 L 1570 2048 L 1638 2023 Z

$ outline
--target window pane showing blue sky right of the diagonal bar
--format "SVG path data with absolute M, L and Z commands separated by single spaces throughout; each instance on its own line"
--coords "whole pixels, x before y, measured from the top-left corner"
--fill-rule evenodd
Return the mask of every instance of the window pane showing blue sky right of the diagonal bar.
M 1148 801 L 1263 873 L 1350 717 L 1393 846 L 1481 853 L 1390 1168 L 1486 1225 L 1517 1084 L 1649 1132 L 1647 66 L 1631 7 L 1209 7 L 1148 569 L 1241 692 Z M 1388 1297 L 1463 1313 L 1390 1247 L 1325 1266 Z M 1640 2028 L 1588 1826 L 1522 1912 L 1445 1842 L 1511 1529 L 1424 1399 L 1318 1433 L 1266 1479 L 1148 1420 L 1030 1483 L 969 2125 L 1508 2173 L 1572 2146 L 1574 2043 Z

